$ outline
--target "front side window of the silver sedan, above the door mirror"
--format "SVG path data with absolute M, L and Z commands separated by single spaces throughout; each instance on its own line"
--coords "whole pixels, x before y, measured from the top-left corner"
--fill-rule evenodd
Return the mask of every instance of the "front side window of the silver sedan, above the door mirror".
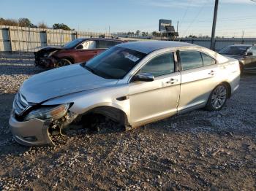
M 173 53 L 165 53 L 153 58 L 151 61 L 148 61 L 140 73 L 150 73 L 154 77 L 159 77 L 165 74 L 170 74 L 174 72 L 174 61 Z

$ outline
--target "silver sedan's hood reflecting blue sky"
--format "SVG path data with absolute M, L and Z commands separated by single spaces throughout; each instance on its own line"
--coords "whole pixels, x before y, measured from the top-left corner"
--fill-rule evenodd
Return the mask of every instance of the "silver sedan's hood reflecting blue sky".
M 61 95 L 115 85 L 118 79 L 105 79 L 92 74 L 80 64 L 44 71 L 30 77 L 20 87 L 26 101 L 40 103 Z

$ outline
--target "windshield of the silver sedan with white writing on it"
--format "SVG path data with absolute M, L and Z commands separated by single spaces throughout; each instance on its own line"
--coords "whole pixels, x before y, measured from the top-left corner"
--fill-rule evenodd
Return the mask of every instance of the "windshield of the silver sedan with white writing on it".
M 146 56 L 143 52 L 124 47 L 112 47 L 82 66 L 100 77 L 122 79 Z

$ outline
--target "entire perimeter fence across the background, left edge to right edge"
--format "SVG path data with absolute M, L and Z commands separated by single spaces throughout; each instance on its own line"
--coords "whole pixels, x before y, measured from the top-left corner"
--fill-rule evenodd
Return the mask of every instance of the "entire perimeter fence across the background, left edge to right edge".
M 110 36 L 110 34 L 93 33 L 86 31 L 64 31 L 61 29 L 27 28 L 17 26 L 0 26 L 0 52 L 34 52 L 46 46 L 61 46 L 73 39 L 86 38 L 90 36 Z M 130 36 L 129 41 L 149 40 L 138 36 Z M 181 38 L 181 42 L 189 42 L 203 47 L 210 47 L 210 38 Z M 217 38 L 215 49 L 220 50 L 232 44 L 256 44 L 256 38 Z

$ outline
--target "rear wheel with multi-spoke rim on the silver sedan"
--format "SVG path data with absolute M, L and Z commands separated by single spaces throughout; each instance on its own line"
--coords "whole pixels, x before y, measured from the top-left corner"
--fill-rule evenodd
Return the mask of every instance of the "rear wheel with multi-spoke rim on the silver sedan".
M 215 87 L 208 98 L 206 109 L 211 112 L 219 111 L 220 109 L 222 109 L 222 107 L 226 104 L 227 94 L 227 85 L 220 84 Z

